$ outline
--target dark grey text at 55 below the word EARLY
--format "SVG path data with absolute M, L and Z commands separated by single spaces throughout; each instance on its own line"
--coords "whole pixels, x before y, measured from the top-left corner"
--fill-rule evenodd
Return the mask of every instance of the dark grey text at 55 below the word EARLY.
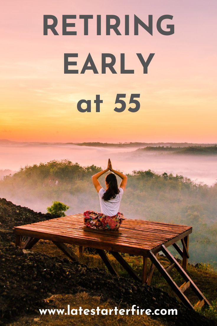
M 117 94 L 115 104 L 120 104 L 121 107 L 117 108 L 115 107 L 115 112 L 123 112 L 126 109 L 126 102 L 121 99 L 125 98 L 126 94 Z M 140 94 L 131 94 L 129 99 L 129 104 L 134 104 L 135 107 L 132 108 L 131 106 L 128 108 L 128 111 L 130 112 L 137 112 L 140 109 L 140 102 L 136 100 L 135 98 L 139 98 Z M 96 104 L 96 112 L 100 112 L 100 104 L 103 103 L 103 100 L 100 99 L 100 95 L 96 95 L 96 99 L 94 100 L 94 103 Z M 86 104 L 86 108 L 82 108 L 82 104 Z M 79 112 L 91 112 L 91 100 L 79 100 L 77 103 L 77 110 Z

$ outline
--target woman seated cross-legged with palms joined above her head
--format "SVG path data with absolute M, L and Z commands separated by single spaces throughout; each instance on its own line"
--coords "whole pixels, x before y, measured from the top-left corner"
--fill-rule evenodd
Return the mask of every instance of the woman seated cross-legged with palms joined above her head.
M 109 170 L 118 175 L 122 181 L 118 187 L 115 174 L 109 173 L 105 178 L 106 189 L 103 189 L 98 178 Z M 124 219 L 124 215 L 119 213 L 118 210 L 127 185 L 127 176 L 113 170 L 109 159 L 107 169 L 94 174 L 92 181 L 100 197 L 101 213 L 93 211 L 84 212 L 84 224 L 89 228 L 99 230 L 117 230 Z

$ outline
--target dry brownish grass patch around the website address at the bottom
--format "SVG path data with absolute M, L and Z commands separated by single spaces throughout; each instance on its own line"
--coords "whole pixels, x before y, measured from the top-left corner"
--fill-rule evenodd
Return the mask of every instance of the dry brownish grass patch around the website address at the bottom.
M 101 302 L 100 297 L 90 297 L 86 292 L 78 293 L 75 295 L 52 295 L 50 298 L 47 298 L 47 309 L 67 309 L 67 305 L 70 304 L 70 309 L 79 309 L 81 306 L 83 309 L 93 309 L 97 306 L 100 309 L 113 309 L 115 304 L 111 302 Z M 121 306 L 119 306 L 119 309 Z M 31 326 L 80 326 L 80 325 L 94 325 L 94 326 L 104 326 L 104 325 L 126 325 L 126 326 L 168 326 L 166 321 L 153 320 L 149 316 L 142 315 L 75 315 L 75 316 L 58 316 L 55 315 L 44 315 L 41 316 L 40 313 L 31 316 L 23 316 L 13 323 L 10 323 L 10 326 L 23 326 L 29 324 Z

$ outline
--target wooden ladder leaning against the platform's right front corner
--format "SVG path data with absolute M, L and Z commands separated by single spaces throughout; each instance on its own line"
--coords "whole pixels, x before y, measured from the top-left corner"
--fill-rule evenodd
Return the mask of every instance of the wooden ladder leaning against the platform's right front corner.
M 188 274 L 183 270 L 183 268 L 179 265 L 177 260 L 170 254 L 169 250 L 165 247 L 165 245 L 162 244 L 161 251 L 165 254 L 165 256 L 170 260 L 170 265 L 164 268 L 155 254 L 150 250 L 149 258 L 153 262 L 153 264 L 156 266 L 158 271 L 162 274 L 162 276 L 166 279 L 167 283 L 170 285 L 170 287 L 173 289 L 173 291 L 177 294 L 179 299 L 185 304 L 186 306 L 196 309 L 201 308 L 204 304 L 210 305 L 209 301 L 205 298 L 203 293 L 197 288 L 195 283 L 192 281 L 192 279 L 188 276 Z M 176 268 L 179 274 L 183 277 L 184 283 L 179 287 L 174 280 L 171 278 L 169 273 L 173 268 Z M 188 298 L 184 295 L 184 291 L 188 288 L 191 288 L 195 294 L 197 295 L 199 301 L 193 306 Z

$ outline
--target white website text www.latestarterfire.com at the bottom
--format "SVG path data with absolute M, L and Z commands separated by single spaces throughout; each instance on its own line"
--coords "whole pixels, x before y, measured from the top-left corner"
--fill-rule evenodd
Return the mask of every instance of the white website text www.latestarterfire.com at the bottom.
M 151 309 L 140 309 L 135 304 L 132 305 L 130 309 L 119 309 L 118 307 L 114 307 L 113 309 L 101 309 L 100 307 L 96 307 L 93 309 L 83 309 L 82 307 L 70 308 L 70 304 L 67 305 L 67 310 L 65 309 L 39 309 L 41 315 L 56 315 L 64 316 L 64 315 L 177 315 L 177 309 L 155 309 L 152 311 Z

